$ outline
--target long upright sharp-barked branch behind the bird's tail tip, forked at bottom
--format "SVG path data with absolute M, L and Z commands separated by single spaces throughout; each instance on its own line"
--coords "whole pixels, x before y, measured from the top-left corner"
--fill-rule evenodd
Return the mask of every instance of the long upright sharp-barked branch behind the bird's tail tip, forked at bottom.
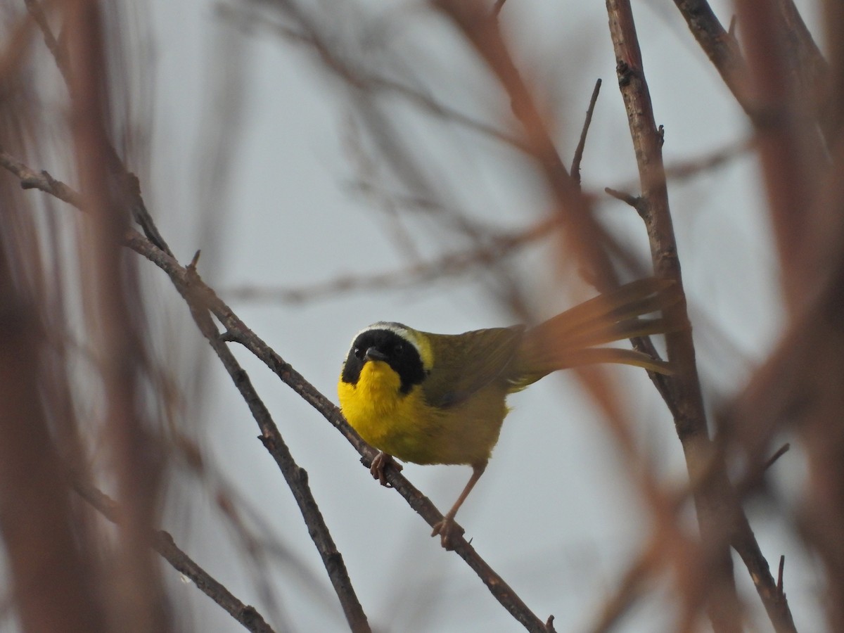
M 610 33 L 618 60 L 619 87 L 625 100 L 630 134 L 636 149 L 642 198 L 647 204 L 645 221 L 651 241 L 657 274 L 674 279 L 682 288 L 677 245 L 668 208 L 668 186 L 662 157 L 662 134 L 657 131 L 636 26 L 628 0 L 607 0 Z M 674 311 L 674 314 L 670 314 Z M 669 309 L 669 319 L 688 322 L 685 302 Z M 791 614 L 782 603 L 772 599 L 776 584 L 760 552 L 729 480 L 720 452 L 713 451 L 703 408 L 697 375 L 695 348 L 691 330 L 666 334 L 668 359 L 677 368 L 665 380 L 676 403 L 674 424 L 684 448 L 690 479 L 694 485 L 695 506 L 701 526 L 701 538 L 707 549 L 716 549 L 719 591 L 712 594 L 708 612 L 717 631 L 740 630 L 738 596 L 735 592 L 733 564 L 728 545 L 733 544 L 748 566 L 771 622 L 778 631 L 793 631 Z M 709 476 L 701 476 L 708 473 Z

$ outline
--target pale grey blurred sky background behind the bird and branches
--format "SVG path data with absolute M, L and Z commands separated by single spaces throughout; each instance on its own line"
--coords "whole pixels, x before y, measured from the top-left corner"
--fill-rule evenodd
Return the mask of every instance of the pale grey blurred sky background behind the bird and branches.
M 15 100 L 31 111 L 20 138 L 0 145 L 9 154 L 23 148 L 17 158 L 31 169 L 80 188 L 84 146 L 69 132 L 78 105 L 39 25 L 26 23 L 27 4 L 3 8 L 6 133 Z M 44 9 L 62 46 L 59 34 L 70 27 L 60 4 Z M 748 116 L 674 3 L 633 4 L 664 129 L 679 262 L 714 430 L 783 332 L 781 264 Z M 795 4 L 825 51 L 822 3 Z M 711 7 L 730 23 L 731 3 Z M 555 200 L 517 147 L 522 129 L 506 93 L 455 24 L 430 5 L 176 0 L 116 3 L 100 18 L 103 50 L 115 53 L 106 57 L 108 136 L 138 176 L 160 234 L 183 265 L 201 250 L 203 280 L 328 398 L 336 400 L 351 339 L 371 322 L 460 333 L 538 322 L 595 293 L 576 259 L 560 252 L 554 231 L 522 235 L 553 214 Z M 596 79 L 603 79 L 582 191 L 621 247 L 613 261 L 629 280 L 652 274 L 652 264 L 636 210 L 604 192 L 639 192 L 607 22 L 603 3 L 508 0 L 499 15 L 566 165 Z M 3 189 L 17 187 L 14 176 L 2 179 Z M 65 288 L 64 329 L 48 323 L 46 340 L 61 338 L 67 354 L 67 406 L 85 470 L 119 497 L 125 489 L 108 450 L 111 409 L 102 404 L 110 392 L 102 346 L 115 339 L 97 339 L 102 315 L 92 306 L 105 291 L 86 297 L 80 290 L 98 274 L 85 268 L 80 246 L 90 219 L 44 192 L 8 199 L 31 207 L 35 235 L 28 235 L 49 260 L 41 267 L 45 296 Z M 6 233 L 7 240 L 21 235 Z M 467 255 L 518 235 L 492 257 Z M 151 262 L 128 251 L 119 257 L 132 262 L 127 279 L 138 280 L 133 305 L 141 308 L 133 319 L 144 322 L 144 371 L 154 376 L 135 394 L 138 415 L 153 420 L 150 435 L 165 457 L 147 482 L 158 486 L 161 507 L 150 526 L 171 533 L 275 630 L 347 630 L 295 500 L 185 302 Z M 401 496 L 371 479 L 322 415 L 249 351 L 230 347 L 306 469 L 373 630 L 521 630 L 463 560 L 430 538 Z M 688 485 L 673 420 L 646 372 L 619 367 L 608 375 L 633 423 L 640 462 L 630 462 L 577 377 L 555 374 L 511 397 L 489 468 L 458 516 L 479 555 L 534 614 L 554 614 L 558 631 L 589 630 L 652 537 L 638 468 L 655 473 L 664 490 L 681 493 Z M 46 426 L 55 424 L 47 414 Z M 54 428 L 51 435 L 68 446 Z M 773 449 L 787 441 L 791 450 L 744 510 L 775 577 L 786 557 L 797 629 L 831 630 L 826 571 L 796 518 L 806 452 L 787 426 Z M 741 472 L 741 463 L 728 465 Z M 403 474 L 444 511 L 469 468 L 407 464 Z M 678 516 L 695 534 L 690 500 Z M 100 529 L 116 547 L 119 530 Z M 0 559 L 3 631 L 22 630 L 10 558 Z M 753 582 L 733 558 L 746 630 L 771 630 Z M 186 576 L 168 565 L 160 574 L 175 628 L 242 629 Z M 681 595 L 670 566 L 661 569 L 642 583 L 617 630 L 677 630 Z M 685 630 L 710 625 L 701 611 L 690 626 Z

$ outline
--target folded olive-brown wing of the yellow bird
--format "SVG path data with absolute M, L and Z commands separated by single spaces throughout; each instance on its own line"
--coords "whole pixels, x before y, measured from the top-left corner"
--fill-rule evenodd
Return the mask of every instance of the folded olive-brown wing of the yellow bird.
M 502 376 L 517 355 L 523 333 L 524 327 L 513 326 L 430 334 L 434 366 L 422 382 L 426 402 L 454 406 Z

